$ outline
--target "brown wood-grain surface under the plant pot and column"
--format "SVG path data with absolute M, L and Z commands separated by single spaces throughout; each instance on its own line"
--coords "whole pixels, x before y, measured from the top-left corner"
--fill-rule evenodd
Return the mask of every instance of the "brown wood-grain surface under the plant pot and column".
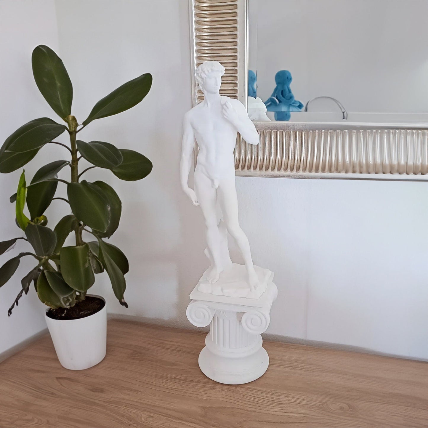
M 205 333 L 109 321 L 107 356 L 63 369 L 50 336 L 0 364 L 7 427 L 427 427 L 420 361 L 265 342 L 268 371 L 221 385 L 197 365 Z

